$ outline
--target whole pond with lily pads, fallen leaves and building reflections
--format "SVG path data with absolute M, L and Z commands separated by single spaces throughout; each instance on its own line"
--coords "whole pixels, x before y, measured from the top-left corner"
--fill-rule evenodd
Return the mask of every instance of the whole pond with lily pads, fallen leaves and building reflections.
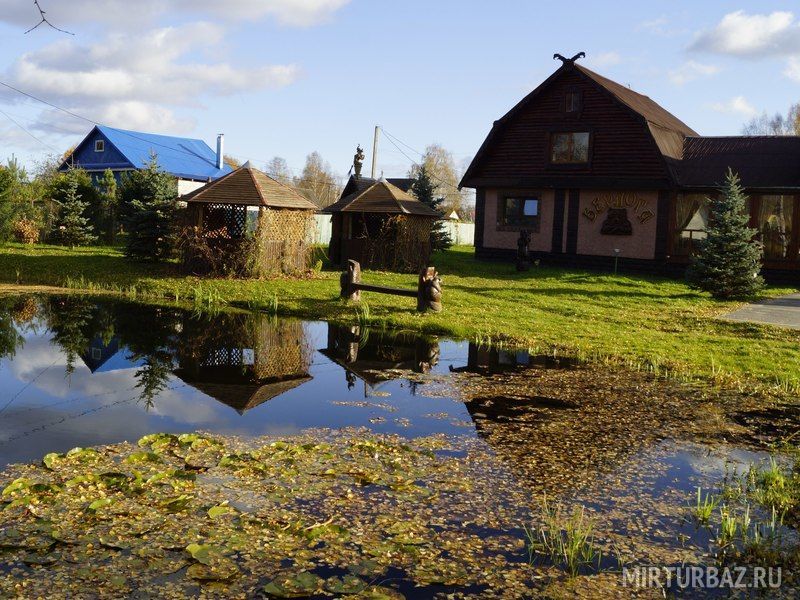
M 198 431 L 211 441 L 194 436 Z M 101 478 L 117 477 L 114 465 L 148 457 L 192 472 L 196 487 L 186 498 L 199 502 L 202 511 L 187 509 L 189 499 L 175 500 L 181 495 L 154 504 L 178 502 L 181 511 L 188 510 L 181 513 L 181 527 L 189 527 L 197 515 L 207 519 L 206 509 L 217 503 L 224 508 L 217 510 L 220 514 L 235 506 L 239 515 L 258 515 L 262 525 L 264 520 L 285 522 L 277 531 L 296 529 L 297 535 L 287 541 L 275 534 L 279 537 L 267 546 L 282 554 L 269 555 L 265 548 L 262 555 L 254 549 L 258 544 L 238 547 L 231 541 L 250 531 L 252 523 L 198 523 L 183 532 L 180 543 L 170 537 L 160 546 L 160 562 L 143 558 L 144 547 L 135 555 L 129 545 L 108 543 L 101 544 L 105 554 L 92 559 L 78 552 L 83 546 L 77 541 L 64 541 L 63 531 L 54 533 L 52 515 L 29 508 L 0 529 L 0 547 L 11 552 L 0 553 L 5 556 L 0 573 L 6 577 L 0 589 L 8 591 L 20 579 L 35 581 L 34 574 L 45 586 L 39 589 L 46 589 L 51 576 L 69 573 L 75 585 L 83 581 L 121 596 L 141 588 L 157 590 L 155 595 L 169 590 L 330 597 L 348 586 L 355 586 L 349 592 L 373 598 L 627 595 L 631 590 L 624 588 L 622 566 L 708 564 L 714 536 L 691 519 L 698 487 L 720 489 L 726 478 L 765 461 L 770 443 L 798 431 L 800 418 L 791 404 L 765 407 L 756 398 L 658 380 L 610 364 L 577 364 L 527 351 L 263 313 L 202 314 L 76 295 L 3 297 L 4 485 L 18 477 L 31 482 L 58 475 L 59 485 L 42 492 L 49 499 L 44 504 L 68 512 L 77 500 L 60 496 L 64 482 L 85 479 L 83 451 L 68 451 L 108 446 L 102 458 L 91 458 L 104 465 L 107 472 L 95 469 Z M 160 432 L 192 435 L 151 435 Z M 138 447 L 125 444 L 140 439 Z M 275 440 L 285 440 L 280 443 L 290 444 L 289 450 L 274 446 Z M 259 445 L 264 443 L 272 445 Z M 280 461 L 264 459 L 265 448 L 276 447 Z M 369 468 L 359 463 L 354 447 L 374 449 L 362 457 Z M 270 460 L 275 452 L 269 450 Z M 394 458 L 379 460 L 384 452 Z M 60 454 L 49 455 L 45 469 L 41 459 L 48 453 Z M 242 456 L 262 461 L 260 475 L 239 469 L 236 477 L 244 483 L 234 484 L 218 465 Z M 175 472 L 156 475 L 169 478 Z M 141 474 L 135 477 L 139 481 Z M 269 493 L 258 487 L 267 479 Z M 181 485 L 173 482 L 169 489 L 180 491 Z M 97 486 L 89 489 L 96 493 Z M 91 499 L 81 496 L 80 514 Z M 105 496 L 99 500 L 105 502 Z M 554 506 L 563 507 L 565 515 L 574 514 L 569 507 L 583 507 L 602 548 L 593 565 L 580 565 L 578 577 L 565 573 L 557 557 L 547 553 L 531 561 L 526 548 L 525 528 L 539 531 Z M 167 512 L 157 528 L 160 535 L 166 535 L 164 523 L 174 516 Z M 123 514 L 136 510 L 131 505 L 118 516 Z M 81 538 L 88 548 L 103 539 L 98 528 L 105 522 L 97 519 L 81 525 L 89 528 Z M 296 525 L 301 521 L 306 525 Z M 43 523 L 45 546 L 14 541 L 19 531 Z M 417 529 L 400 531 L 403 523 Z M 338 529 L 330 530 L 334 525 Z M 363 533 L 381 527 L 383 537 Z M 317 528 L 324 541 L 309 541 L 307 532 Z M 43 533 L 35 531 L 25 539 L 40 540 Z M 426 537 L 423 531 L 435 541 L 419 541 Z M 788 528 L 787 535 L 794 530 Z M 395 544 L 389 549 L 387 536 Z M 211 552 L 217 556 L 211 567 L 197 558 L 208 554 L 207 548 L 222 546 L 226 550 L 219 556 Z M 460 546 L 464 556 L 456 551 Z M 14 554 L 17 550 L 22 554 Z M 120 553 L 127 553 L 128 561 L 145 561 L 138 575 L 115 562 Z M 353 567 L 365 556 L 370 565 L 376 563 L 372 578 Z M 111 574 L 95 580 L 99 575 L 93 571 L 78 573 L 74 565 L 82 560 L 107 566 Z M 59 568 L 42 566 L 52 564 Z M 158 577 L 147 579 L 149 566 L 161 569 Z M 217 570 L 210 575 L 207 567 Z M 236 573 L 235 582 L 219 575 L 226 569 Z M 223 583 L 224 588 L 209 587 Z M 368 584 L 373 587 L 366 589 Z M 787 597 L 791 585 L 785 585 Z M 696 595 L 675 585 L 669 589 Z

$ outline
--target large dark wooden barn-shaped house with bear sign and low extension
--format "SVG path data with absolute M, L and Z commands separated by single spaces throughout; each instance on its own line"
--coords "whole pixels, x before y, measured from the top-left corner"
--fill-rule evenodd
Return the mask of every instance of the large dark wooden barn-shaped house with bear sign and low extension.
M 579 55 L 580 56 L 580 55 Z M 475 253 L 682 273 L 728 168 L 750 196 L 765 273 L 800 273 L 800 138 L 702 137 L 575 57 L 495 121 L 461 181 L 476 190 Z

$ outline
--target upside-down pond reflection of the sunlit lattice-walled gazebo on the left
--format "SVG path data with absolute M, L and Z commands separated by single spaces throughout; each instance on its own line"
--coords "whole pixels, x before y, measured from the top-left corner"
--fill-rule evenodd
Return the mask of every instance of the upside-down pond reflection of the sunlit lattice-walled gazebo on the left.
M 185 322 L 175 375 L 240 414 L 311 380 L 302 323 L 220 315 L 216 327 Z

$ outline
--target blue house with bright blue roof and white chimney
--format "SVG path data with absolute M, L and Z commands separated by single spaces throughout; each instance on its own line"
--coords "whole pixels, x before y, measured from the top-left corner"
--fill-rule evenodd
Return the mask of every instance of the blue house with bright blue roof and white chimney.
M 59 170 L 80 167 L 97 179 L 111 169 L 119 181 L 126 171 L 145 168 L 155 154 L 158 165 L 178 180 L 182 196 L 231 172 L 223 161 L 222 143 L 220 134 L 214 152 L 203 140 L 97 125 Z

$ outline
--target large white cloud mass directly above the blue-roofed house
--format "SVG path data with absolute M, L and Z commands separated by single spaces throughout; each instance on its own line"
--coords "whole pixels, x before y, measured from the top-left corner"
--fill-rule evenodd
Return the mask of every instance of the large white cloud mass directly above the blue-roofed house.
M 224 30 L 190 23 L 138 34 L 111 33 L 91 45 L 63 39 L 22 55 L 4 78 L 17 87 L 94 121 L 130 129 L 188 133 L 195 123 L 177 107 L 292 83 L 295 65 L 233 66 L 197 62 L 222 42 Z M 86 123 L 46 110 L 34 126 L 48 132 Z

